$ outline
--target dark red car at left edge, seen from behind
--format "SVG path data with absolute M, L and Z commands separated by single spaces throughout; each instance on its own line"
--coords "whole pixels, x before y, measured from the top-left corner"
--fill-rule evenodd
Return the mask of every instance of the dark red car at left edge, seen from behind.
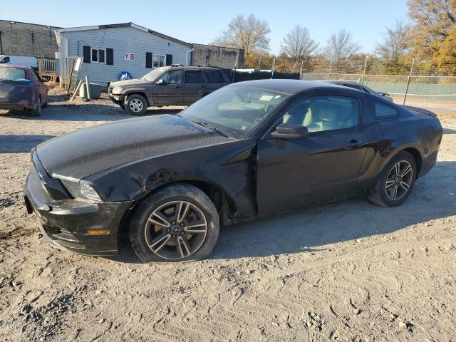
M 0 109 L 28 110 L 41 115 L 48 90 L 36 71 L 29 66 L 0 66 Z

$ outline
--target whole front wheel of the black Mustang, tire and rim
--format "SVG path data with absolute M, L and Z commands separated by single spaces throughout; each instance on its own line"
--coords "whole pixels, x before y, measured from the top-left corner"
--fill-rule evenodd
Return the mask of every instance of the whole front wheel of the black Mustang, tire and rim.
M 173 183 L 138 204 L 129 228 L 133 250 L 143 262 L 201 260 L 217 242 L 219 217 L 202 190 Z

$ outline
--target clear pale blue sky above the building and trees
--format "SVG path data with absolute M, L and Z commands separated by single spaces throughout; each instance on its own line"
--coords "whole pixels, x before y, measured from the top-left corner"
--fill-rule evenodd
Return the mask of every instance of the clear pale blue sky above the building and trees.
M 190 43 L 209 43 L 238 14 L 253 13 L 271 28 L 270 47 L 278 53 L 281 38 L 295 24 L 309 28 L 321 46 L 346 27 L 372 52 L 385 26 L 407 18 L 406 0 L 301 1 L 48 1 L 0 0 L 0 19 L 52 26 L 88 26 L 128 21 Z

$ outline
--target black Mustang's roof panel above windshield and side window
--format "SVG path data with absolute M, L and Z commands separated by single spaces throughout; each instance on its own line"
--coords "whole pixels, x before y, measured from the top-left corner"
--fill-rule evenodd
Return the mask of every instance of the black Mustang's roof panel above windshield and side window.
M 255 80 L 239 82 L 245 86 L 252 86 L 255 88 L 263 88 L 267 90 L 279 91 L 281 93 L 294 94 L 302 90 L 309 90 L 314 88 L 344 88 L 336 84 L 328 84 L 323 81 L 301 81 L 301 80 Z M 234 84 L 239 84 L 234 83 Z

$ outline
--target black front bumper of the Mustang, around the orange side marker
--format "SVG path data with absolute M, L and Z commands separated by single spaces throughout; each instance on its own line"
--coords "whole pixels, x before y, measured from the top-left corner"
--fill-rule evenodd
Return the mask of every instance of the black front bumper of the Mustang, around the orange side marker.
M 36 213 L 41 232 L 54 247 L 94 256 L 117 254 L 119 227 L 132 202 L 52 199 L 34 168 L 26 179 L 24 198 L 28 213 Z

